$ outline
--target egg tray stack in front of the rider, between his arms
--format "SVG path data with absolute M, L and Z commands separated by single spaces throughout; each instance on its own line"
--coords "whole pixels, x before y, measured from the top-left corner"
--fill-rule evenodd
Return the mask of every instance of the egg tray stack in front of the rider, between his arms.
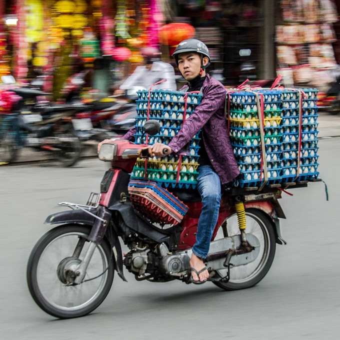
M 156 142 L 168 144 L 201 101 L 201 94 L 168 90 L 152 90 L 148 99 L 148 91 L 138 91 L 135 141 L 137 144 L 152 145 Z M 148 114 L 149 105 L 149 114 Z M 155 119 L 160 124 L 158 134 L 146 135 L 143 125 L 146 120 Z M 132 179 L 154 180 L 163 187 L 195 188 L 197 185 L 197 167 L 200 134 L 197 133 L 181 156 L 138 158 L 132 170 Z M 178 171 L 179 167 L 179 171 Z M 146 174 L 145 174 L 146 169 Z

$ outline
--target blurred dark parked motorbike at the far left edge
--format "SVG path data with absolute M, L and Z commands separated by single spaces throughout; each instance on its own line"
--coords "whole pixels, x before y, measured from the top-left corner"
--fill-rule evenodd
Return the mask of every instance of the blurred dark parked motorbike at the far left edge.
M 80 158 L 81 143 L 72 127 L 74 111 L 83 107 L 54 105 L 43 107 L 44 114 L 23 114 L 25 102 L 48 93 L 29 87 L 7 89 L 17 95 L 10 111 L 2 114 L 0 125 L 0 161 L 16 160 L 21 147 L 52 152 L 64 165 L 72 166 Z M 41 112 L 42 113 L 42 112 Z

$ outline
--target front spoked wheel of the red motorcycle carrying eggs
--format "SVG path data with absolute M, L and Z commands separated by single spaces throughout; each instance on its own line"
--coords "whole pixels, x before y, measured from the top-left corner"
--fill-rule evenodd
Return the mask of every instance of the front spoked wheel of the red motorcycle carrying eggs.
M 72 285 L 74 272 L 83 260 L 90 232 L 79 225 L 57 226 L 35 244 L 27 264 L 29 292 L 37 305 L 59 318 L 88 314 L 105 299 L 113 281 L 112 249 L 98 244 L 82 283 Z

